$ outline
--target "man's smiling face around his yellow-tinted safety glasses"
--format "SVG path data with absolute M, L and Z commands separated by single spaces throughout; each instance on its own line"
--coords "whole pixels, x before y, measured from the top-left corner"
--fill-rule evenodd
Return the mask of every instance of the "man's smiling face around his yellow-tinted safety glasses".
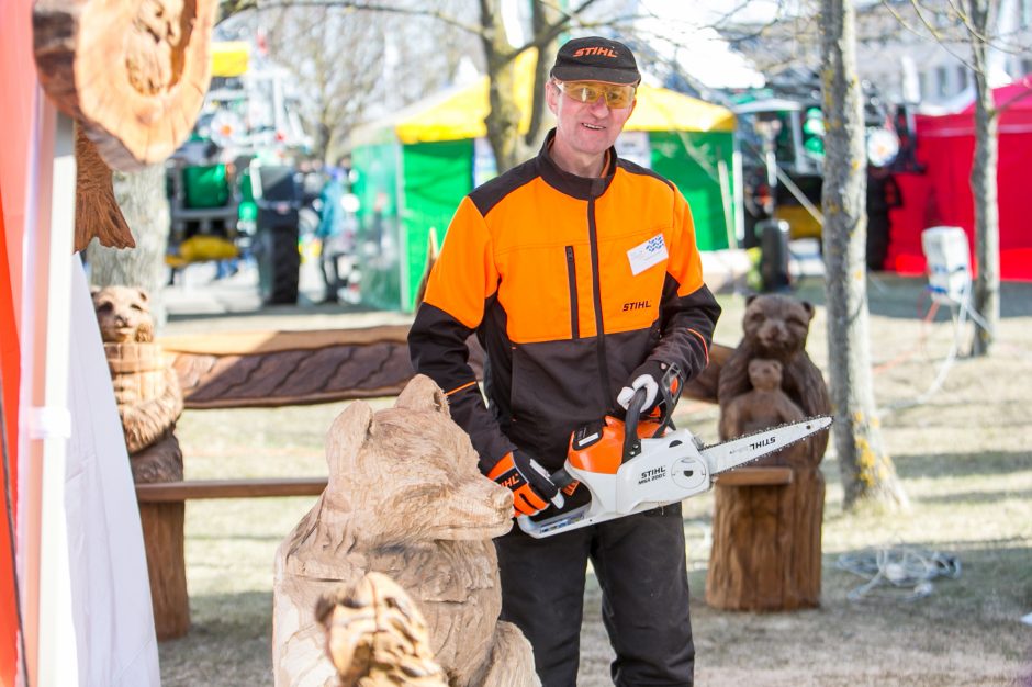
M 605 83 L 592 83 L 604 90 Z M 625 108 L 606 105 L 605 94 L 594 101 L 581 102 L 563 93 L 562 88 L 551 81 L 546 91 L 548 109 L 556 115 L 556 137 L 561 144 L 584 155 L 602 155 L 616 142 L 624 124 L 635 111 L 637 100 Z

